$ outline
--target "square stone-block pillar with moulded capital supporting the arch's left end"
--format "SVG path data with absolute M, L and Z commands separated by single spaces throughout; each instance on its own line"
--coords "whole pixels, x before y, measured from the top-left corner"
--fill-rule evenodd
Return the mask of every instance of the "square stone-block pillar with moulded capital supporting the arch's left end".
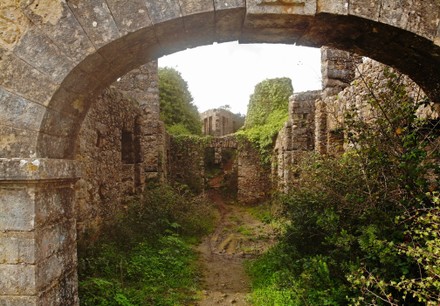
M 78 305 L 71 160 L 0 159 L 0 305 Z

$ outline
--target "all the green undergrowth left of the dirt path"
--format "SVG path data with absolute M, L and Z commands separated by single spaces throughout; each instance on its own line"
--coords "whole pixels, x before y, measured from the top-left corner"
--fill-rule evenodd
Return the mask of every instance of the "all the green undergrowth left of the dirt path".
M 191 244 L 214 224 L 214 210 L 184 186 L 149 187 L 80 245 L 81 305 L 188 305 L 199 274 Z

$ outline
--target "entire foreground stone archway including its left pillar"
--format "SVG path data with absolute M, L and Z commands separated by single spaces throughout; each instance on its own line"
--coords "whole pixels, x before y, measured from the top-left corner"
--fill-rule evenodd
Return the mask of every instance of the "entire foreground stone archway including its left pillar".
M 161 55 L 231 40 L 353 51 L 440 101 L 438 0 L 2 1 L 0 302 L 78 303 L 72 157 L 90 98 Z

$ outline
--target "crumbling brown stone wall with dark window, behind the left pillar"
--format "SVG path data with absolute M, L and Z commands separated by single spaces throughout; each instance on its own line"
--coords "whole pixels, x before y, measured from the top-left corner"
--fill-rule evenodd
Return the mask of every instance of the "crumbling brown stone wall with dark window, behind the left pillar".
M 165 130 L 159 121 L 157 63 L 130 72 L 92 104 L 78 137 L 77 228 L 97 229 L 128 196 L 166 171 Z

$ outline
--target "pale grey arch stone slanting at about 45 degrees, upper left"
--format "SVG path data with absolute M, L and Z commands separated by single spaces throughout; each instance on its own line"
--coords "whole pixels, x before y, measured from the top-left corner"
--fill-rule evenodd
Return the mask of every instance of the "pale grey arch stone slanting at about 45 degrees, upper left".
M 38 71 L 60 84 L 73 69 L 74 63 L 38 29 L 32 28 L 20 40 L 14 53 Z

